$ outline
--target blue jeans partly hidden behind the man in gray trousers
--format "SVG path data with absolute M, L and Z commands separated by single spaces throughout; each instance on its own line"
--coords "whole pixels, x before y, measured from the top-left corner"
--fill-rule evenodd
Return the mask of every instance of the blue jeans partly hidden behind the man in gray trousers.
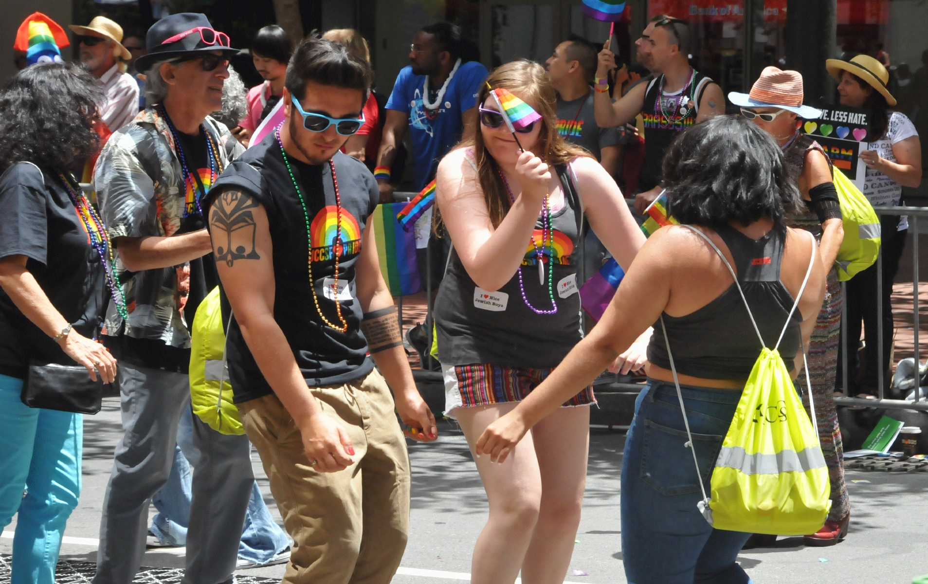
M 158 514 L 148 531 L 164 543 L 183 546 L 187 541 L 187 518 L 192 497 L 190 465 L 197 466 L 200 454 L 193 447 L 193 413 L 187 408 L 177 426 L 177 447 L 168 482 L 151 499 Z M 264 504 L 261 488 L 254 482 L 245 514 L 245 526 L 238 543 L 238 559 L 256 564 L 269 562 L 290 547 L 287 533 L 274 521 Z

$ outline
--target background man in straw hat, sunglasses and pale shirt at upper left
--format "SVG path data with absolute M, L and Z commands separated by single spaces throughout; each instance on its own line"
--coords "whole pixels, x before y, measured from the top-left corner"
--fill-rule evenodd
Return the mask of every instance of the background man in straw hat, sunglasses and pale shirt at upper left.
M 69 25 L 74 32 L 74 44 L 81 47 L 81 62 L 97 78 L 97 84 L 106 95 L 100 108 L 100 119 L 115 132 L 132 122 L 138 113 L 138 84 L 125 72 L 126 60 L 132 58 L 122 41 L 122 27 L 112 20 L 98 16 L 88 26 Z

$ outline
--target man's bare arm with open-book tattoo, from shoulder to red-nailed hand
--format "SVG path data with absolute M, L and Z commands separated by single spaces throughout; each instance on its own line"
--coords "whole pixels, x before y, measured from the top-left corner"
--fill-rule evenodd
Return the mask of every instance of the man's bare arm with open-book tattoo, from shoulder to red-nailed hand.
M 317 471 L 337 472 L 352 464 L 344 428 L 316 404 L 274 319 L 274 258 L 264 207 L 248 193 L 226 190 L 210 208 L 216 269 L 251 356 L 277 398 L 290 412 Z M 313 308 L 309 308 L 313 309 Z

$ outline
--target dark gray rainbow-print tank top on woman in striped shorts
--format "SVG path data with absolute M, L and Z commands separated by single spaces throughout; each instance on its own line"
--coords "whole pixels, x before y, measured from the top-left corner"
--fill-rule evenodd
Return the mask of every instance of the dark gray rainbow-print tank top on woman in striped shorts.
M 443 365 L 492 363 L 522 368 L 554 368 L 574 344 L 583 338 L 576 266 L 579 196 L 566 167 L 558 169 L 564 203 L 551 214 L 554 252 L 544 250 L 545 283 L 538 282 L 535 249 L 522 259 L 525 298 L 538 310 L 550 310 L 548 270 L 558 312 L 535 314 L 525 305 L 518 272 L 496 292 L 477 286 L 452 249 L 445 279 L 435 299 L 434 318 L 438 336 L 438 360 Z M 540 242 L 541 217 L 535 223 L 535 241 Z

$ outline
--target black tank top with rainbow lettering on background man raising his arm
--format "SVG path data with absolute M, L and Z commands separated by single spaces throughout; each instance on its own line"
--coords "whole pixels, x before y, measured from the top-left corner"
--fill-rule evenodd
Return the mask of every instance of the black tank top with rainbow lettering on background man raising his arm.
M 641 174 L 638 175 L 638 190 L 641 192 L 661 184 L 664 152 L 680 132 L 696 123 L 702 92 L 706 85 L 713 83 L 712 79 L 701 72 L 693 71 L 692 79 L 686 87 L 673 94 L 664 92 L 663 99 L 658 100 L 658 96 L 662 95 L 663 79 L 664 75 L 658 75 L 651 80 L 644 94 L 644 107 L 641 110 L 644 120 L 644 162 L 641 163 Z

